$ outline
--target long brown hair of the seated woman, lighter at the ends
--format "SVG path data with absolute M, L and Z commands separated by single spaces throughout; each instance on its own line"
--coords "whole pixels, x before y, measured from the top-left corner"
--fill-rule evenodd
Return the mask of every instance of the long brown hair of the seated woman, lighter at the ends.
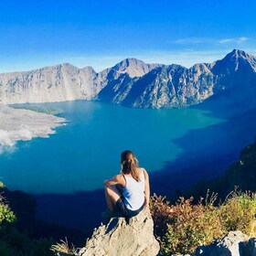
M 124 175 L 131 174 L 133 179 L 137 182 L 141 181 L 140 176 L 137 172 L 137 167 L 139 166 L 139 161 L 135 157 L 132 151 L 125 150 L 121 154 L 121 173 Z

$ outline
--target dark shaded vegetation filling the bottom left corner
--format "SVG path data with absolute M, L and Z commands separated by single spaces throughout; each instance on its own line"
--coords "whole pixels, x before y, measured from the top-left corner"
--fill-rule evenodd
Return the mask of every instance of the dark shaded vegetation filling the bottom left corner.
M 79 230 L 37 220 L 36 208 L 35 197 L 0 181 L 0 256 L 53 256 L 52 244 L 65 236 L 84 243 L 86 234 Z

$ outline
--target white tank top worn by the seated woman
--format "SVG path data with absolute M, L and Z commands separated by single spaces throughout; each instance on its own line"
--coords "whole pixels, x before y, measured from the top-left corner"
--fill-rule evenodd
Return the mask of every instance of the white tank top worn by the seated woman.
M 144 171 L 141 169 L 139 182 L 133 179 L 133 176 L 123 176 L 126 181 L 123 187 L 124 205 L 130 210 L 137 210 L 144 204 Z

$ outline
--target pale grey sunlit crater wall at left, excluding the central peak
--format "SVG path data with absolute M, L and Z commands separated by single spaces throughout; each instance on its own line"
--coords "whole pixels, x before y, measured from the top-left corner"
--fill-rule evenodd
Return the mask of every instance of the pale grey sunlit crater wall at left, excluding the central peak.
M 95 75 L 91 67 L 78 69 L 70 64 L 1 74 L 0 100 L 4 104 L 89 100 L 100 91 Z

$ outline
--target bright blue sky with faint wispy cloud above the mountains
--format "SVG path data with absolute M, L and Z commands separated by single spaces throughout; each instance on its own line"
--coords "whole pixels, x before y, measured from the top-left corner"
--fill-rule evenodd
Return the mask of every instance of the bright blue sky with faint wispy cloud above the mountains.
M 0 72 L 256 55 L 255 0 L 0 0 Z

